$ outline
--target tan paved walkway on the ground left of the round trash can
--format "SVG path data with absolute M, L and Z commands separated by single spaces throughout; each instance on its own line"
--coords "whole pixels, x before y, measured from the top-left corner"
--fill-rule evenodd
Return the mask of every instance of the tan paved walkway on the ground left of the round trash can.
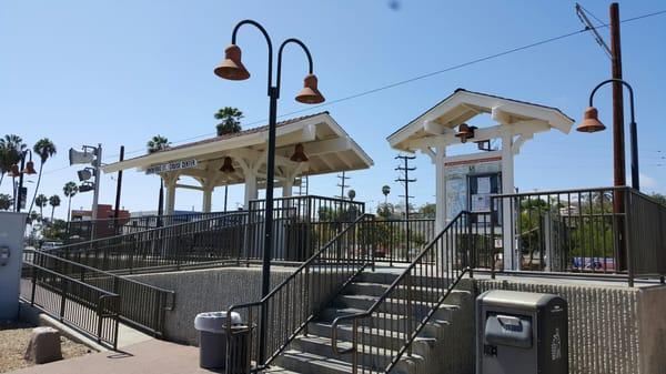
M 127 346 L 122 352 L 100 352 L 36 365 L 11 374 L 183 374 L 212 373 L 199 367 L 199 348 L 159 340 Z

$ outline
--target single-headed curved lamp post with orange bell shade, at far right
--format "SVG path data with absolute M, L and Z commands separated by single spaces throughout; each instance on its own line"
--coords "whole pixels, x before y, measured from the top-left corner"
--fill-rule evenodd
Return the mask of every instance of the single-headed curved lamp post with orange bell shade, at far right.
M 634 89 L 632 89 L 632 85 L 629 85 L 629 83 L 625 82 L 622 79 L 608 79 L 597 84 L 589 94 L 589 108 L 585 110 L 583 121 L 581 122 L 581 124 L 578 124 L 576 130 L 581 132 L 597 132 L 606 129 L 606 127 L 599 121 L 598 111 L 594 107 L 593 100 L 594 94 L 598 89 L 601 89 L 604 84 L 608 84 L 612 82 L 619 82 L 629 90 L 629 104 L 632 105 L 632 122 L 629 123 L 629 137 L 632 142 L 632 186 L 635 190 L 640 190 L 640 181 L 638 173 L 638 140 L 636 133 L 636 118 L 634 113 Z

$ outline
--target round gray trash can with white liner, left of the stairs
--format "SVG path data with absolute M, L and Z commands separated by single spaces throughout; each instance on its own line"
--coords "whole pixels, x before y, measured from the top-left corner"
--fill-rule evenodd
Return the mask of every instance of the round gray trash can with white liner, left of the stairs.
M 226 312 L 206 312 L 198 314 L 194 319 L 194 328 L 199 331 L 199 366 L 203 368 L 226 366 Z M 232 312 L 232 327 L 234 330 L 245 327 L 241 323 L 241 315 Z

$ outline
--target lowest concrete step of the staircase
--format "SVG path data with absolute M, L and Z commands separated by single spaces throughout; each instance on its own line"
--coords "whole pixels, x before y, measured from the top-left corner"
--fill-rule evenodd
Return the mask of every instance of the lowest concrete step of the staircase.
M 299 350 L 284 351 L 275 358 L 275 363 L 280 367 L 301 374 L 352 373 L 352 364 L 349 362 Z

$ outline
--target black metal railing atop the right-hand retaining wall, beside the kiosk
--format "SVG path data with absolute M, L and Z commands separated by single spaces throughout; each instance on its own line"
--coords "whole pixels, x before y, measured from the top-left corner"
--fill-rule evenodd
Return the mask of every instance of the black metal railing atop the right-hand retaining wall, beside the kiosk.
M 630 188 L 502 194 L 491 205 L 493 240 L 481 267 L 622 275 L 632 284 L 666 275 L 666 206 Z

